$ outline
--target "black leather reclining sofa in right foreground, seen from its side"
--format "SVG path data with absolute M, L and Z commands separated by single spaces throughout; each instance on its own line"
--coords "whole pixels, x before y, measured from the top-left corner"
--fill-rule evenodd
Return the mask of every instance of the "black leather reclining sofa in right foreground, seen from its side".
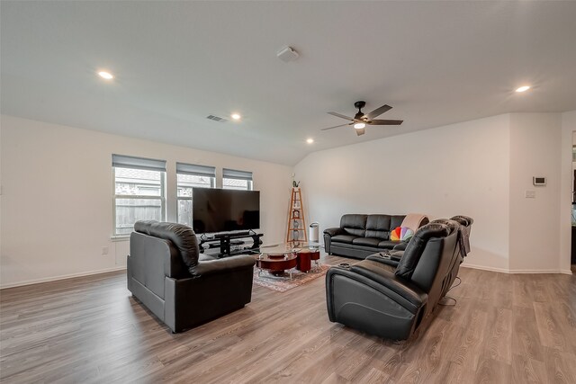
M 437 220 L 419 228 L 400 261 L 383 252 L 351 266 L 330 268 L 330 321 L 371 335 L 408 339 L 454 282 L 469 249 L 465 232 L 455 220 Z

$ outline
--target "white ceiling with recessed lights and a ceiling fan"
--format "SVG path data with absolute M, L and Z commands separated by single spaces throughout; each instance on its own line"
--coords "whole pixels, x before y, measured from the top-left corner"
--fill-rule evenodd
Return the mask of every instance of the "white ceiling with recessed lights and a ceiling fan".
M 293 165 L 503 112 L 576 110 L 575 2 L 0 6 L 2 113 L 73 127 Z M 280 61 L 284 45 L 301 57 Z M 404 124 L 320 131 L 357 100 L 392 105 L 381 118 Z M 230 112 L 245 118 L 206 119 Z

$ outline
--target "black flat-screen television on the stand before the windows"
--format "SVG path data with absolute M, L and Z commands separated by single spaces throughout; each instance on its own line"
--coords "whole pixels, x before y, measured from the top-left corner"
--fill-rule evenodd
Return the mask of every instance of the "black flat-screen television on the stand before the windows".
M 192 219 L 196 233 L 260 228 L 260 192 L 193 188 Z

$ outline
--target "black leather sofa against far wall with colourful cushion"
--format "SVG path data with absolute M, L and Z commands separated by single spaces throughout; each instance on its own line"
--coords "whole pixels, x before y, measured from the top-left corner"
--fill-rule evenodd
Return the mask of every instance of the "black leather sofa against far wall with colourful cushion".
M 340 227 L 324 230 L 324 248 L 329 255 L 365 259 L 376 252 L 388 250 L 399 243 L 390 240 L 390 232 L 401 227 L 405 215 L 347 214 Z M 428 223 L 424 219 L 420 224 Z

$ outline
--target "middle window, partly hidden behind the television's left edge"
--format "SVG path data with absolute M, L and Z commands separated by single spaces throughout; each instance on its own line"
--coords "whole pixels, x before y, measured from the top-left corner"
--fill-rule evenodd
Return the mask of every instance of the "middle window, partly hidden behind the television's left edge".
M 192 227 L 192 187 L 214 188 L 216 168 L 176 163 L 176 199 L 178 222 Z

